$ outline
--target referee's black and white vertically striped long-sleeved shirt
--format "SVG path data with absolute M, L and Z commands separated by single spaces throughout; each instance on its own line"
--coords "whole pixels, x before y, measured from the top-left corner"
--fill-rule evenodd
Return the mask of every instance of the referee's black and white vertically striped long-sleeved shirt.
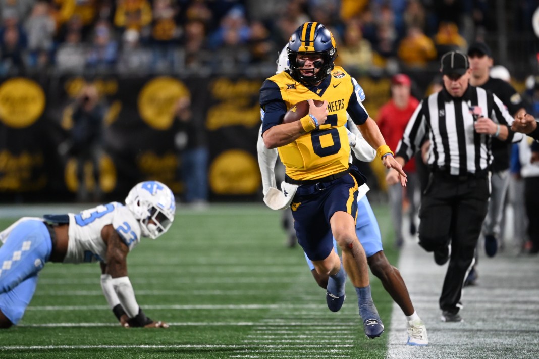
M 396 156 L 408 161 L 428 139 L 431 146 L 427 165 L 431 170 L 459 176 L 487 170 L 492 162 L 490 136 L 475 132 L 474 109 L 500 125 L 510 127 L 513 123 L 503 103 L 491 92 L 468 86 L 461 98 L 453 98 L 444 88 L 416 108 L 397 146 Z

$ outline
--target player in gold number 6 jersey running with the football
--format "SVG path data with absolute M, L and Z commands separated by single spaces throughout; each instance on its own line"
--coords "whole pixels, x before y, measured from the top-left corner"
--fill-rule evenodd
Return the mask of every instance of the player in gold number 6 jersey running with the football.
M 363 107 L 354 81 L 334 66 L 336 56 L 335 40 L 324 25 L 298 27 L 288 43 L 290 69 L 267 79 L 260 89 L 262 139 L 268 149 L 278 149 L 286 167 L 285 182 L 299 185 L 291 204 L 294 228 L 316 271 L 329 275 L 329 309 L 341 308 L 348 274 L 365 335 L 372 339 L 384 326 L 371 298 L 367 259 L 355 232 L 357 190 L 364 177 L 348 163 L 347 112 L 385 167 L 399 172 L 403 186 L 406 175 Z M 323 106 L 316 107 L 313 99 L 324 101 Z M 288 109 L 303 100 L 309 100 L 309 114 L 282 123 Z M 343 263 L 333 251 L 332 237 L 342 250 Z

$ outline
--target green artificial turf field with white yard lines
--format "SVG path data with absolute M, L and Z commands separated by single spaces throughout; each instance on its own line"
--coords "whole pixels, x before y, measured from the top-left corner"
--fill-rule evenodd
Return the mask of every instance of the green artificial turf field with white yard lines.
M 387 208 L 374 210 L 390 223 Z M 371 275 L 386 333 L 369 340 L 353 286 L 331 313 L 301 249 L 285 246 L 281 214 L 259 204 L 179 208 L 168 233 L 142 239 L 129 277 L 144 312 L 168 329 L 120 327 L 98 264 L 47 264 L 19 326 L 1 332 L 0 357 L 384 358 L 392 301 L 380 281 Z M 381 231 L 395 264 L 392 231 Z

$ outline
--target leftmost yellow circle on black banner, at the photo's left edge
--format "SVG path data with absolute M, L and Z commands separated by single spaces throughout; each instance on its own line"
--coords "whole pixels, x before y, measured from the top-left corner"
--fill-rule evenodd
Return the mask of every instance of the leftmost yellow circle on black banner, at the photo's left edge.
M 0 121 L 12 128 L 25 128 L 43 114 L 45 93 L 37 82 L 21 77 L 0 85 Z

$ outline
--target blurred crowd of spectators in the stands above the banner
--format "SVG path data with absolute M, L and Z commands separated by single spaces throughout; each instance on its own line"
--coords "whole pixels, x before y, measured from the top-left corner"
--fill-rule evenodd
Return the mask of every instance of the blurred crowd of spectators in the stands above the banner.
M 441 54 L 465 51 L 473 40 L 488 42 L 504 30 L 529 38 L 537 5 L 536 0 L 0 0 L 0 75 L 267 72 L 293 30 L 309 20 L 337 37 L 336 62 L 349 71 L 437 68 Z M 535 56 L 533 44 L 528 47 L 519 55 Z

